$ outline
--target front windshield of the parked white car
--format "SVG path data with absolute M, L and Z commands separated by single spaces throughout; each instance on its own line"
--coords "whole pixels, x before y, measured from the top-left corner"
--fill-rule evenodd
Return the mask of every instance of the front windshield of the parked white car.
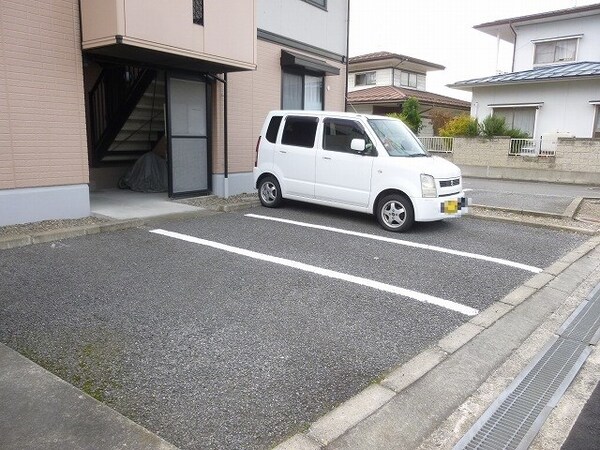
M 390 156 L 430 156 L 421 142 L 401 121 L 396 119 L 369 119 L 369 124 Z

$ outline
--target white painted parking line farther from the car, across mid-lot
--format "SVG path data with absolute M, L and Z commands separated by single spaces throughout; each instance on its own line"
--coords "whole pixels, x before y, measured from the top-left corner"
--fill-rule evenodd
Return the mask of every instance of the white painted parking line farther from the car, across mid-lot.
M 366 286 L 380 291 L 389 292 L 391 294 L 401 295 L 403 297 L 412 298 L 418 302 L 429 303 L 432 305 L 446 308 L 451 311 L 456 311 L 466 316 L 476 316 L 479 311 L 469 306 L 461 305 L 450 300 L 444 300 L 442 298 L 434 297 L 432 295 L 423 294 L 421 292 L 411 291 L 410 289 L 404 289 L 398 286 L 392 286 L 390 284 L 380 283 L 378 281 L 369 280 L 367 278 L 355 277 L 354 275 L 348 275 L 342 272 L 336 272 L 329 269 L 323 269 L 317 266 L 311 266 L 310 264 L 304 264 L 298 261 L 292 261 L 290 259 L 279 258 L 277 256 L 265 255 L 264 253 L 258 253 L 251 250 L 245 250 L 243 248 L 232 247 L 230 245 L 220 244 L 214 241 L 207 241 L 194 236 L 188 236 L 187 234 L 175 233 L 173 231 L 167 231 L 162 229 L 150 230 L 150 233 L 160 234 L 163 236 L 180 239 L 182 241 L 191 242 L 193 244 L 205 245 L 218 250 L 223 250 L 236 255 L 246 256 L 248 258 L 258 259 L 261 261 L 267 261 L 274 264 L 280 264 L 282 266 L 291 267 L 293 269 L 303 270 L 305 272 L 322 275 L 337 280 L 347 281 L 349 283 L 358 284 L 360 286 Z

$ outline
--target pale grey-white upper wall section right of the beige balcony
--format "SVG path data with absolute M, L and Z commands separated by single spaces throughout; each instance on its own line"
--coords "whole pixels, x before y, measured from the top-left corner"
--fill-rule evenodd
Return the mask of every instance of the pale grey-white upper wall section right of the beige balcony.
M 257 22 L 261 30 L 346 55 L 347 14 L 347 0 L 329 0 L 327 11 L 302 0 L 258 0 Z

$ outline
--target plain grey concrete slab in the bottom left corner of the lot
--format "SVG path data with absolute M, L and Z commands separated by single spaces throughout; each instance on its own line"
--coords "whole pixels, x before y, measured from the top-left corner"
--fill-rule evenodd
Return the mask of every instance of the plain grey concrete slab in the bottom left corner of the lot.
M 175 448 L 4 344 L 0 405 L 2 449 Z

